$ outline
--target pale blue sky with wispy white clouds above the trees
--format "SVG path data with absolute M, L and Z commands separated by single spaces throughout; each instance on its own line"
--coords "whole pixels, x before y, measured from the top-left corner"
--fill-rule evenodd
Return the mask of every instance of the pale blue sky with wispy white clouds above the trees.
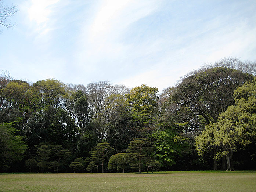
M 256 61 L 255 0 L 2 0 L 0 70 L 32 83 L 174 86 L 224 57 Z

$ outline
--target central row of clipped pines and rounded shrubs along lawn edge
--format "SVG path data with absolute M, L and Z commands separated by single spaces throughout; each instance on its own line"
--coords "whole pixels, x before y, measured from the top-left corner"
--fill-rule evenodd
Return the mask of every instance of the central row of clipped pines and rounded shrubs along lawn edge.
M 96 171 L 98 173 L 99 166 L 104 173 L 104 165 L 108 165 L 109 170 L 116 170 L 118 172 L 125 170 L 138 169 L 141 173 L 142 168 L 145 166 L 159 168 L 160 163 L 154 158 L 155 151 L 154 146 L 147 138 L 133 139 L 126 153 L 117 153 L 113 155 L 113 148 L 109 143 L 98 143 L 91 151 L 91 157 L 83 161 L 82 158 L 77 158 L 70 164 L 70 167 L 74 170 L 82 171 L 84 164 L 90 162 L 87 165 L 86 170 L 89 172 Z

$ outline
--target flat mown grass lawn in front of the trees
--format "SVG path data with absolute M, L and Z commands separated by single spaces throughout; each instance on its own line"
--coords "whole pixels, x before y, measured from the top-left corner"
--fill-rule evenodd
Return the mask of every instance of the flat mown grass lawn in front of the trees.
M 256 191 L 256 171 L 2 173 L 0 191 Z

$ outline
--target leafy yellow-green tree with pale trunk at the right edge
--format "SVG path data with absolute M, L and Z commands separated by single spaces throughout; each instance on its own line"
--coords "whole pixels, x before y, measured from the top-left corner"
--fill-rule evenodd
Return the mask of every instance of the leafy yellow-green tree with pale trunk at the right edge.
M 233 153 L 241 147 L 255 142 L 256 136 L 256 80 L 247 82 L 234 93 L 236 106 L 230 106 L 220 114 L 216 123 L 210 123 L 196 137 L 199 155 L 209 147 L 220 147 L 215 159 L 225 156 L 227 170 L 234 170 Z

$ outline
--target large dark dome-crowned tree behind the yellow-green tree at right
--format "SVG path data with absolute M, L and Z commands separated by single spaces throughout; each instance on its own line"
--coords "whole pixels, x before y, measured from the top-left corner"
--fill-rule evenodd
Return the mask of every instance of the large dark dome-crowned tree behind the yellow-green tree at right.
M 184 132 L 193 141 L 206 124 L 216 123 L 219 114 L 235 104 L 235 89 L 252 79 L 248 73 L 224 67 L 202 68 L 188 74 L 170 97 L 176 104 L 173 111 L 177 124 L 182 125 L 177 127 L 182 130 L 185 125 Z M 216 150 L 213 148 L 213 156 Z M 217 170 L 216 160 L 213 169 Z

